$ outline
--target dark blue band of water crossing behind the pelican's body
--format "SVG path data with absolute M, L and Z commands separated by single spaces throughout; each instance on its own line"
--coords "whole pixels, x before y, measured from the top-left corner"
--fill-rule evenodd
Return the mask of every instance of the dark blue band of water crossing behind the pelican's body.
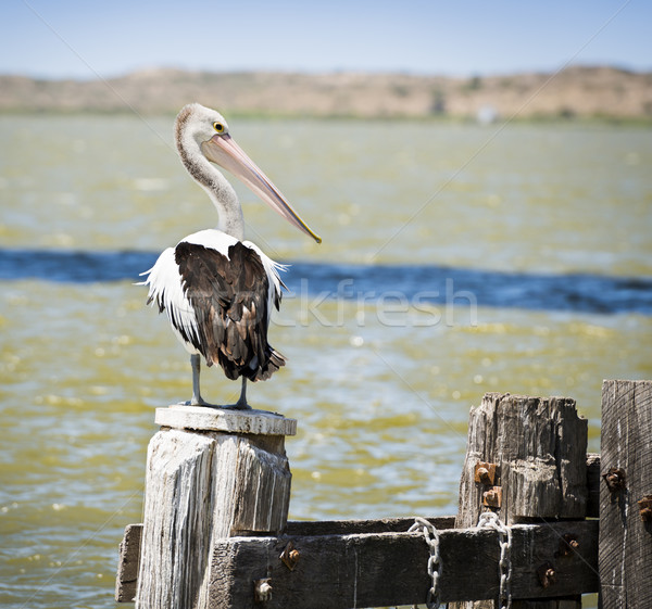
M 0 250 L 0 280 L 139 281 L 158 254 L 118 251 Z M 505 272 L 436 265 L 289 263 L 284 281 L 296 294 L 410 303 L 652 315 L 652 278 L 591 274 Z

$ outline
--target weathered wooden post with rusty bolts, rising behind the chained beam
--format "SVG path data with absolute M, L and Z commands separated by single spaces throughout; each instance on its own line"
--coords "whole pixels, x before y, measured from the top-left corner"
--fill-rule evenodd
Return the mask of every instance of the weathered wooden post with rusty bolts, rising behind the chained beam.
M 507 525 L 584 519 L 587 432 L 587 420 L 578 416 L 573 399 L 486 394 L 480 406 L 471 410 L 455 525 L 475 526 L 480 512 L 487 510 L 496 511 Z M 564 570 L 578 559 L 573 551 L 541 557 L 530 574 L 531 585 L 553 588 Z M 517 560 L 512 556 L 512 561 Z M 546 578 L 549 569 L 552 575 Z M 561 602 L 521 600 L 513 607 L 581 607 L 578 599 Z M 493 606 L 493 601 L 457 605 Z

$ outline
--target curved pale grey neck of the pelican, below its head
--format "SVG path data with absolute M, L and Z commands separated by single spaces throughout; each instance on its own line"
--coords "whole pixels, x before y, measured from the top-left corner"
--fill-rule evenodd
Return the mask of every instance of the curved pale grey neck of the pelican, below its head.
M 188 173 L 213 201 L 220 217 L 217 229 L 242 241 L 244 239 L 244 216 L 234 187 L 201 153 L 192 137 L 184 135 L 178 137 L 177 135 L 177 149 Z

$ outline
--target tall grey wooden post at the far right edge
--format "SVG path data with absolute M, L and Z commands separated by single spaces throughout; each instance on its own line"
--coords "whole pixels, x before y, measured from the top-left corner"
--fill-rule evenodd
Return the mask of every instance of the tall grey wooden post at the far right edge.
M 601 468 L 600 607 L 652 607 L 652 381 L 603 382 Z

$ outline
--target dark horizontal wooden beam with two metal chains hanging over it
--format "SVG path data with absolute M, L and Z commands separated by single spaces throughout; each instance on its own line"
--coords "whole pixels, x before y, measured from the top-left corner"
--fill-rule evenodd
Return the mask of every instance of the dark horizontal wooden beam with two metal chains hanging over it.
M 440 531 L 443 564 L 441 600 L 496 598 L 499 589 L 498 534 L 487 529 Z M 564 535 L 577 541 L 560 553 Z M 291 542 L 293 570 L 280 555 Z M 550 598 L 595 592 L 598 522 L 519 524 L 513 528 L 514 598 Z M 431 580 L 428 546 L 419 533 L 366 533 L 284 537 L 231 537 L 215 545 L 211 609 L 243 609 L 254 604 L 254 582 L 268 580 L 265 609 L 350 609 L 425 602 Z M 555 582 L 538 575 L 551 563 Z

